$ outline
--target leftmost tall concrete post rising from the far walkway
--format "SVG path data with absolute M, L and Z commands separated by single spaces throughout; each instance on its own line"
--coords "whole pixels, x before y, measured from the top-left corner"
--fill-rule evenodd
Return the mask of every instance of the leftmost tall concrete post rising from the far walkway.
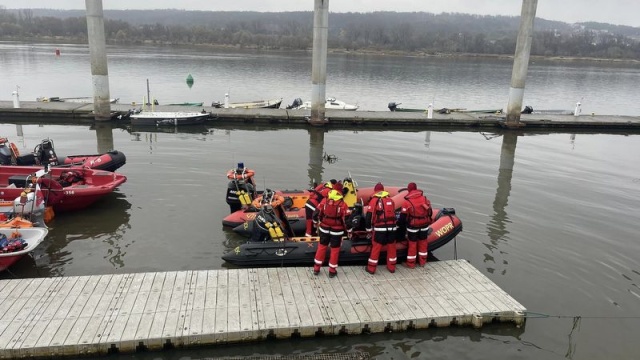
M 107 45 L 104 34 L 102 0 L 85 0 L 85 6 L 87 8 L 89 53 L 91 54 L 93 114 L 96 120 L 110 120 L 109 70 L 107 68 Z

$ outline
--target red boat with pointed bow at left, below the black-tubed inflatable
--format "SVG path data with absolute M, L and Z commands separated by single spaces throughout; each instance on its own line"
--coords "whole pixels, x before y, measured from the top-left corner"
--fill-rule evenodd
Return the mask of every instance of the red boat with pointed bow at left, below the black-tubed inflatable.
M 46 206 L 56 212 L 83 209 L 127 181 L 127 177 L 111 171 L 86 167 L 52 167 L 42 175 L 37 166 L 0 166 L 0 201 L 13 201 L 25 189 L 31 192 L 40 185 Z

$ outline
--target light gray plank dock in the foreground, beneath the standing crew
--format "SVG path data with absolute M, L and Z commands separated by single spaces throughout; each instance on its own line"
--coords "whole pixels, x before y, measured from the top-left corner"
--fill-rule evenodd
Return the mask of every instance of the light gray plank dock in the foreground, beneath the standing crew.
M 174 271 L 0 281 L 0 358 L 87 356 L 269 338 L 524 324 L 526 309 L 466 260 Z

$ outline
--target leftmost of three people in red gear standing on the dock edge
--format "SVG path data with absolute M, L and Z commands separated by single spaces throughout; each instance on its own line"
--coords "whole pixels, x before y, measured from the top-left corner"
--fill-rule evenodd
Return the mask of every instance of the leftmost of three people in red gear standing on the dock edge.
M 342 237 L 347 230 L 346 217 L 349 215 L 349 206 L 344 202 L 342 184 L 336 183 L 329 191 L 326 198 L 322 199 L 313 213 L 314 221 L 319 223 L 318 232 L 320 242 L 313 259 L 313 274 L 318 275 L 327 255 L 327 246 L 330 247 L 329 277 L 338 275 L 338 257 Z

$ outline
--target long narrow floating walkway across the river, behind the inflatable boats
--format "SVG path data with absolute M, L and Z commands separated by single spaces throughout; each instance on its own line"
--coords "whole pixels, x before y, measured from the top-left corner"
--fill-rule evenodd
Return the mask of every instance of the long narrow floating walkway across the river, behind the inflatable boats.
M 117 120 L 118 114 L 126 114 L 133 108 L 130 104 L 112 104 L 114 115 L 112 123 L 128 124 L 128 120 Z M 291 125 L 306 126 L 309 110 L 287 109 L 218 109 L 211 106 L 154 106 L 155 111 L 205 111 L 211 114 L 209 124 L 248 124 L 248 125 Z M 14 109 L 10 101 L 0 100 L 0 119 L 15 123 L 47 124 L 93 124 L 93 104 L 65 102 L 23 101 L 21 108 Z M 327 126 L 333 127 L 420 127 L 420 128 L 472 128 L 502 129 L 506 127 L 505 114 L 487 114 L 474 112 L 451 112 L 433 114 L 429 119 L 423 112 L 392 111 L 343 111 L 329 110 L 325 113 Z M 598 130 L 639 131 L 640 116 L 617 116 L 591 114 L 573 116 L 553 113 L 522 114 L 518 128 L 526 130 Z

